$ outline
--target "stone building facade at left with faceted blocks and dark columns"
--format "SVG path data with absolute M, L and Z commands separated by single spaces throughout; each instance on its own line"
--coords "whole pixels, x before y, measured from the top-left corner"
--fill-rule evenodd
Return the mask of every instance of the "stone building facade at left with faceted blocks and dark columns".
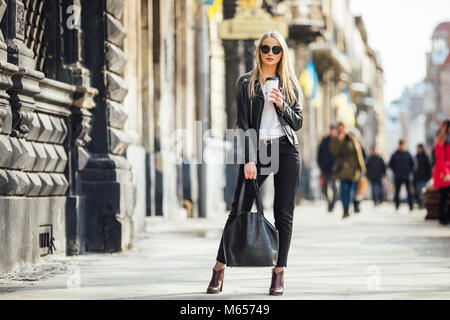
M 0 1 L 0 272 L 130 248 L 123 1 Z

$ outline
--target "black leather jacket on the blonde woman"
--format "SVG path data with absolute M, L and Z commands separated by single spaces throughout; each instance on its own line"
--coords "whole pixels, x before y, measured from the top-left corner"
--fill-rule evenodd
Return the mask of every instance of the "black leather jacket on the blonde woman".
M 255 81 L 255 96 L 252 101 L 248 98 L 248 83 L 250 81 L 251 72 L 248 72 L 239 77 L 236 81 L 236 105 L 237 105 L 237 122 L 236 126 L 247 132 L 249 129 L 254 129 L 256 131 L 256 136 L 245 135 L 245 163 L 257 161 L 257 150 L 259 149 L 259 128 L 261 124 L 261 116 L 264 109 L 264 95 L 262 92 L 259 79 Z M 282 83 L 279 74 L 277 73 L 278 79 L 280 79 L 279 89 L 281 91 Z M 288 105 L 286 102 L 286 94 L 283 93 L 284 108 L 280 110 L 275 103 L 274 107 L 277 112 L 278 119 L 283 130 L 286 132 L 286 136 L 289 142 L 297 147 L 298 138 L 296 131 L 300 130 L 303 125 L 303 92 L 295 90 L 296 101 L 295 103 Z M 300 99 L 299 99 L 300 98 Z M 251 132 L 249 130 L 248 132 Z M 256 147 L 255 147 L 256 146 Z

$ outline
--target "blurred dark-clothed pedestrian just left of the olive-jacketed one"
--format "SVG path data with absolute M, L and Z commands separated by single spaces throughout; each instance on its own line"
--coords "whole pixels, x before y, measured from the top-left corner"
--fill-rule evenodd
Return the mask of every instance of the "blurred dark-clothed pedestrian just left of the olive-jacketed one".
M 327 200 L 328 212 L 333 211 L 338 199 L 336 177 L 333 173 L 334 156 L 330 151 L 330 140 L 332 137 L 336 137 L 336 135 L 336 127 L 333 125 L 330 126 L 329 135 L 322 139 L 317 152 L 317 163 L 319 164 L 322 175 L 322 194 Z

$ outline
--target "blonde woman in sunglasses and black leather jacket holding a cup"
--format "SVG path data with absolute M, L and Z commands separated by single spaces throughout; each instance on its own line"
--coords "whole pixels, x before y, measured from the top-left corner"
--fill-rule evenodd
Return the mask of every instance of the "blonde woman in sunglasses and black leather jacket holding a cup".
M 300 153 L 296 131 L 303 124 L 303 92 L 288 55 L 287 44 L 277 31 L 265 33 L 255 52 L 256 67 L 236 82 L 237 126 L 244 132 L 256 131 L 256 141 L 245 139 L 245 163 L 239 167 L 234 201 L 225 227 L 236 217 L 239 195 L 244 179 L 256 179 L 261 186 L 270 173 L 274 174 L 274 220 L 279 233 L 278 261 L 272 269 L 271 295 L 284 291 L 284 267 L 291 242 L 295 192 L 300 177 Z M 266 91 L 266 79 L 276 77 L 278 89 Z M 262 150 L 260 150 L 262 149 Z M 273 150 L 273 152 L 272 152 Z M 278 151 L 278 152 L 277 152 Z M 260 155 L 269 163 L 261 163 Z M 268 168 L 274 167 L 273 172 Z M 263 169 L 263 170 L 262 170 Z M 245 188 L 242 211 L 250 211 L 255 200 L 254 188 Z M 207 293 L 222 291 L 225 270 L 223 238 Z

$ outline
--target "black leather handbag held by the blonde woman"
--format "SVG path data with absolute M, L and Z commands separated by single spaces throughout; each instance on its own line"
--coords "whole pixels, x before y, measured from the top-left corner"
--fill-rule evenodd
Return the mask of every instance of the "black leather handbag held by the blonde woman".
M 264 217 L 255 179 L 257 212 L 242 212 L 244 178 L 235 219 L 223 231 L 225 261 L 230 267 L 273 267 L 278 259 L 278 230 Z

